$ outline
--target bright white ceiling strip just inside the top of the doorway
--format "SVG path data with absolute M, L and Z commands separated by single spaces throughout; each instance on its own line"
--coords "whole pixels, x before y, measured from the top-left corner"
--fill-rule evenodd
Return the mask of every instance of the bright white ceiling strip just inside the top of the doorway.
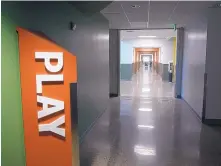
M 141 39 L 167 39 L 176 37 L 176 31 L 173 29 L 163 29 L 163 30 L 121 30 L 120 32 L 121 40 L 131 40 L 138 39 L 139 36 L 150 36 L 149 38 Z M 156 36 L 156 37 L 151 37 Z

